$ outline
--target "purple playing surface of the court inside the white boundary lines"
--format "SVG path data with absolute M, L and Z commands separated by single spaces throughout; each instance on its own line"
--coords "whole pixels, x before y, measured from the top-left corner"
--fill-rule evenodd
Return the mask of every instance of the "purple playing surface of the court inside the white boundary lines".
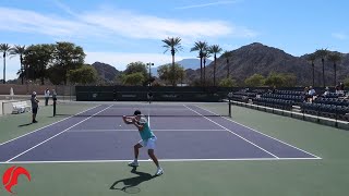
M 136 128 L 124 124 L 120 117 L 104 114 L 115 110 L 130 114 L 134 108 L 97 106 L 0 144 L 0 162 L 132 160 L 132 147 L 140 140 Z M 161 109 L 152 106 L 152 110 Z M 213 112 L 197 106 L 177 106 L 172 108 L 176 111 L 197 117 L 149 115 L 160 161 L 321 159 L 229 118 L 208 115 Z M 141 150 L 140 159 L 148 160 L 145 149 Z

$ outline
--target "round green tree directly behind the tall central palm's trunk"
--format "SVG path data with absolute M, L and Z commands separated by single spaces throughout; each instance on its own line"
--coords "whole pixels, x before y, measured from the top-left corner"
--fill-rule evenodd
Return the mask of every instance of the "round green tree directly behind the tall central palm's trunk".
M 165 64 L 165 65 L 159 66 L 157 70 L 159 78 L 161 81 L 165 81 L 165 83 L 166 82 L 172 83 L 173 81 L 174 81 L 174 83 L 177 83 L 179 79 L 182 83 L 184 75 L 185 75 L 185 71 L 184 71 L 183 66 L 181 66 L 178 63 L 174 63 L 174 73 L 176 73 L 174 76 L 173 76 L 173 74 L 171 74 L 171 70 L 172 70 L 171 64 Z

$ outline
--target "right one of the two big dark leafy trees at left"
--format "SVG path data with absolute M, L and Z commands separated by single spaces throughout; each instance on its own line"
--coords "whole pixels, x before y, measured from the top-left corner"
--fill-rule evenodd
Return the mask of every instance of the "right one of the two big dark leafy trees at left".
M 56 42 L 55 47 L 53 66 L 61 70 L 61 81 L 67 85 L 69 71 L 82 68 L 86 54 L 82 47 L 72 42 Z

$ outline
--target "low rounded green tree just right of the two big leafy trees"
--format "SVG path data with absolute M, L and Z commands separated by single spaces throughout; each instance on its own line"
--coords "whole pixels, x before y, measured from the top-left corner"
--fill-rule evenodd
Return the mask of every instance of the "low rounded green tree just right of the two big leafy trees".
M 80 69 L 70 70 L 68 72 L 68 78 L 74 84 L 91 84 L 97 81 L 97 71 L 92 65 L 83 65 Z

